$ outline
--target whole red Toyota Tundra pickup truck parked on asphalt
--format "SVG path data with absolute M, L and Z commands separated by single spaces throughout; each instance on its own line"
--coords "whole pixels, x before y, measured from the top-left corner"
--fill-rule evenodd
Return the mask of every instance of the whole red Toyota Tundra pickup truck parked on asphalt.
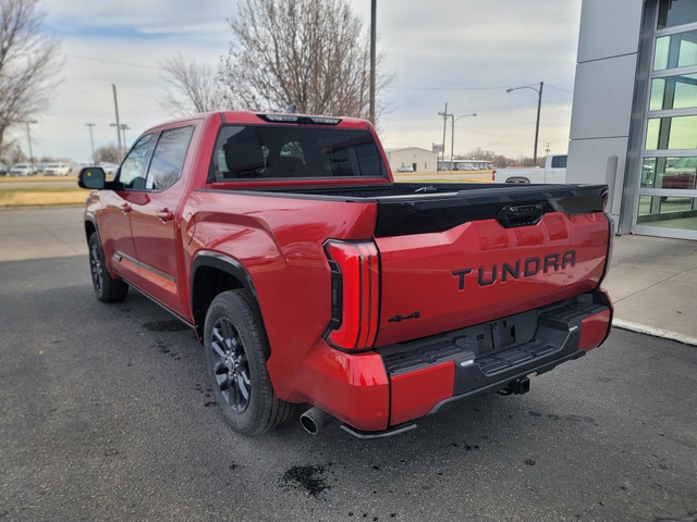
M 97 298 L 189 325 L 243 434 L 299 403 L 310 433 L 401 433 L 610 331 L 606 186 L 395 183 L 363 120 L 247 112 L 151 128 L 78 183 Z

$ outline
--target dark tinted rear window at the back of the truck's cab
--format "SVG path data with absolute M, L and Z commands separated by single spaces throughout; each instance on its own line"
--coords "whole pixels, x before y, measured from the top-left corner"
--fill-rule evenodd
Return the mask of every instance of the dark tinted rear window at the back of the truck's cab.
M 225 125 L 209 179 L 386 177 L 367 130 L 310 126 Z

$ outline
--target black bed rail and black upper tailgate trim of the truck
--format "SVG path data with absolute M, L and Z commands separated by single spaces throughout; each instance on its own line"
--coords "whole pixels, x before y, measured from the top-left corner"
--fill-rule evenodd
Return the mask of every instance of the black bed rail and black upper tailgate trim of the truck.
M 258 179 L 257 179 L 258 181 Z M 463 223 L 498 220 L 502 226 L 537 223 L 548 212 L 602 212 L 607 185 L 491 185 L 394 183 L 196 189 L 266 198 L 378 203 L 376 237 L 444 232 Z

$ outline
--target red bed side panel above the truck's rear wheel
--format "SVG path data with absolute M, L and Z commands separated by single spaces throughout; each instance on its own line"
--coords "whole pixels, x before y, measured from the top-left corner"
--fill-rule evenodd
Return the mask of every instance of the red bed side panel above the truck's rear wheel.
M 195 224 L 187 262 L 210 250 L 246 268 L 269 334 L 313 346 L 329 324 L 327 238 L 363 239 L 375 229 L 376 206 L 256 197 L 216 190 L 192 194 Z

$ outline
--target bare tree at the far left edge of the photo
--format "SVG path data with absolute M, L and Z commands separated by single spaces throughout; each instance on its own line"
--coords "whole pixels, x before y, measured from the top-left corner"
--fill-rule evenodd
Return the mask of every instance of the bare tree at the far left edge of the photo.
M 62 66 L 59 41 L 42 33 L 38 0 L 0 0 L 0 148 L 5 132 L 44 110 Z

